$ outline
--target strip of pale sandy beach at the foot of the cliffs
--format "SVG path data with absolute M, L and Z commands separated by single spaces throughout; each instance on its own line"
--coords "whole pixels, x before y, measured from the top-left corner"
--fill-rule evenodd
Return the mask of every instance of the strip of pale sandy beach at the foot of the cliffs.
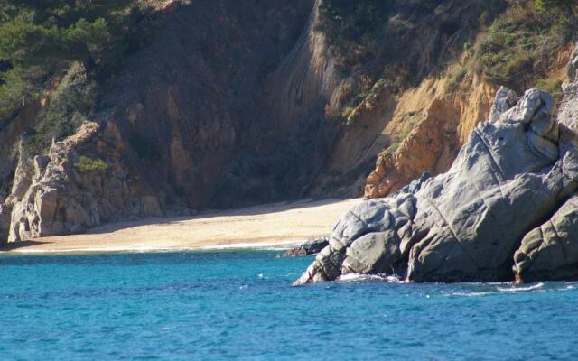
M 21 242 L 4 252 L 84 253 L 291 245 L 328 236 L 360 199 L 303 200 L 108 224 L 89 233 Z

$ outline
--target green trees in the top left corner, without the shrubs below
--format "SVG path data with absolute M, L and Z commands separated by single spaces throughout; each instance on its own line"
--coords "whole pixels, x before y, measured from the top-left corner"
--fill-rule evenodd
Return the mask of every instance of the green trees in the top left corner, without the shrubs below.
M 106 79 L 135 51 L 143 18 L 135 0 L 0 0 L 0 120 L 32 98 L 33 88 L 78 61 Z

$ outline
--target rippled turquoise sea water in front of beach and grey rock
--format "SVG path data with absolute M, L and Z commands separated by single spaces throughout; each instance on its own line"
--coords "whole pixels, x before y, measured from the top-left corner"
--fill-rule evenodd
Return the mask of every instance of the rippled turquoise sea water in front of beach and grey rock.
M 578 283 L 291 287 L 273 251 L 0 255 L 0 359 L 578 359 Z

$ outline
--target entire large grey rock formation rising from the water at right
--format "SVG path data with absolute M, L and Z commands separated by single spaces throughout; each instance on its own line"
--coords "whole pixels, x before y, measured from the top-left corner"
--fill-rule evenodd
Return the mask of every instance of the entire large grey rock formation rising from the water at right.
M 569 236 L 578 235 L 578 200 L 530 232 L 578 187 L 578 152 L 573 146 L 561 152 L 568 126 L 561 130 L 553 109 L 553 98 L 538 89 L 516 98 L 500 88 L 489 122 L 472 131 L 449 171 L 351 208 L 295 284 L 345 273 L 396 273 L 415 282 L 507 281 L 514 278 L 520 244 L 514 270 L 522 280 L 545 279 L 553 270 L 555 278 L 578 273 L 578 244 Z

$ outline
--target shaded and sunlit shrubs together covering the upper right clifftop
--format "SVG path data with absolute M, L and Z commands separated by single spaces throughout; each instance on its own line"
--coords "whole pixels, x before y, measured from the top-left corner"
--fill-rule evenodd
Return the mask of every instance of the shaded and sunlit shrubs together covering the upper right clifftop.
M 557 90 L 561 79 L 550 78 L 549 60 L 572 41 L 577 8 L 572 0 L 474 1 L 465 8 L 452 0 L 325 0 L 318 30 L 351 79 L 340 112 L 328 117 L 346 119 L 378 81 L 402 92 L 443 74 L 459 86 L 470 73 L 517 91 Z M 447 14 L 456 9 L 468 16 Z

